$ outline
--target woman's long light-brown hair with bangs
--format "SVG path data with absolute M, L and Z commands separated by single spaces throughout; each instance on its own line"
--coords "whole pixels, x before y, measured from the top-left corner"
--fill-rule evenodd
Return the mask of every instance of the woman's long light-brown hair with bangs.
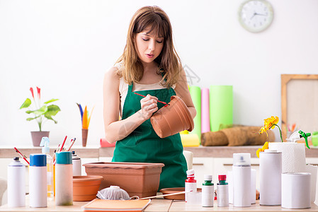
M 164 47 L 154 61 L 159 64 L 157 73 L 163 75 L 160 82 L 161 85 L 170 88 L 178 82 L 182 66 L 176 49 L 174 49 L 169 17 L 158 6 L 144 6 L 132 16 L 124 52 L 118 61 L 116 61 L 116 63 L 123 62 L 124 64 L 124 69 L 119 70 L 118 74 L 122 76 L 129 85 L 132 82 L 139 82 L 142 79 L 144 69 L 138 57 L 134 40 L 135 35 L 141 33 L 146 28 L 150 28 L 147 33 L 151 33 L 154 30 L 159 37 L 164 37 Z

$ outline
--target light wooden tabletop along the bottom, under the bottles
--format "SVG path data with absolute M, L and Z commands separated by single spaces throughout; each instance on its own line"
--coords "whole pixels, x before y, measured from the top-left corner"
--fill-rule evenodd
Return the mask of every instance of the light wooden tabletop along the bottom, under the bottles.
M 19 208 L 8 208 L 8 205 L 0 207 L 0 211 L 37 211 L 37 212 L 61 212 L 61 211 L 73 211 L 79 212 L 83 211 L 81 206 L 87 204 L 87 201 L 74 201 L 73 206 L 55 206 L 55 201 L 47 201 L 47 208 L 30 208 L 28 204 L 28 198 L 24 207 Z M 318 206 L 316 204 L 311 205 L 311 208 L 306 209 L 288 209 L 282 208 L 280 206 L 260 206 L 259 201 L 256 204 L 252 204 L 251 207 L 237 208 L 233 207 L 231 204 L 229 207 L 217 207 L 217 201 L 214 202 L 214 207 L 202 207 L 200 205 L 191 205 L 185 201 L 180 200 L 169 200 L 169 199 L 152 199 L 150 204 L 145 209 L 147 212 L 157 212 L 157 211 L 318 211 Z

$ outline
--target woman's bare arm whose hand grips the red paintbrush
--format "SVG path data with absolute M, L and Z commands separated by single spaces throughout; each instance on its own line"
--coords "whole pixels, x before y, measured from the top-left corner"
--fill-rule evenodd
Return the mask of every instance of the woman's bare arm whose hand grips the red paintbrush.
M 113 66 L 106 72 L 103 80 L 103 119 L 105 136 L 109 143 L 119 141 L 128 136 L 145 120 L 149 119 L 153 112 L 158 110 L 157 98 L 147 96 L 140 100 L 142 109 L 132 114 L 127 119 L 119 120 L 120 93 L 117 74 L 118 69 Z

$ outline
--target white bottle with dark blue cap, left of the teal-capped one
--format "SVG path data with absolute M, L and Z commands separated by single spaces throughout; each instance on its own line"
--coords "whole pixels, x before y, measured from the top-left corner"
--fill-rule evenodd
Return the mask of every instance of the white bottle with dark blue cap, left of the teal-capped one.
M 47 163 L 45 154 L 30 155 L 29 192 L 30 207 L 47 207 Z

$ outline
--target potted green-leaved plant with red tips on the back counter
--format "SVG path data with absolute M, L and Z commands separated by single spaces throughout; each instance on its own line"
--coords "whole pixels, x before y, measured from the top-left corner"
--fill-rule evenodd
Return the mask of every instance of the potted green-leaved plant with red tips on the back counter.
M 57 101 L 58 99 L 51 99 L 44 103 L 41 102 L 41 89 L 36 87 L 37 89 L 37 98 L 34 97 L 33 88 L 30 88 L 30 92 L 32 94 L 33 101 L 30 98 L 27 98 L 20 109 L 26 108 L 25 112 L 27 114 L 33 114 L 33 117 L 29 117 L 26 120 L 32 121 L 35 120 L 38 122 L 39 131 L 31 131 L 33 146 L 40 146 L 40 141 L 43 136 L 49 136 L 50 131 L 42 131 L 42 124 L 47 120 L 52 120 L 57 124 L 57 121 L 53 119 L 57 112 L 60 111 L 57 105 L 50 105 L 50 103 Z

